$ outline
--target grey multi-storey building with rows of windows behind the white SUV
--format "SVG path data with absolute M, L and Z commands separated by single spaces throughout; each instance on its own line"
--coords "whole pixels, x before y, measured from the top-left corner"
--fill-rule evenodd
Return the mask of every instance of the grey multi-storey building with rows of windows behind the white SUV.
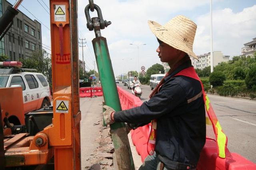
M 0 2 L 1 13 L 5 12 L 7 6 L 12 6 L 7 0 L 0 0 Z M 19 11 L 13 20 L 12 27 L 2 40 L 4 44 L 0 45 L 0 55 L 1 53 L 8 55 L 11 61 L 31 57 L 33 51 L 42 50 L 41 24 Z

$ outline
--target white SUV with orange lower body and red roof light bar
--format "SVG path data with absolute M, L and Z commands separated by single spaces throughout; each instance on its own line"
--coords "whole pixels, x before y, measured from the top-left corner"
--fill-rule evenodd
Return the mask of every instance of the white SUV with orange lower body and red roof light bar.
M 51 105 L 50 86 L 43 74 L 25 72 L 33 69 L 17 68 L 12 64 L 6 67 L 5 63 L 10 62 L 0 62 L 0 88 L 22 87 L 24 113 Z M 18 63 L 20 64 L 20 62 Z

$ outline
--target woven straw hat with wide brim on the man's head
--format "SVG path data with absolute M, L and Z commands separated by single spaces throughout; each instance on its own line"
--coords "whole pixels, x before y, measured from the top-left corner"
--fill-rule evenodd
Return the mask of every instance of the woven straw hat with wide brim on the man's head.
M 176 16 L 163 26 L 155 21 L 148 21 L 148 25 L 158 39 L 198 60 L 193 52 L 197 27 L 193 21 L 184 16 Z

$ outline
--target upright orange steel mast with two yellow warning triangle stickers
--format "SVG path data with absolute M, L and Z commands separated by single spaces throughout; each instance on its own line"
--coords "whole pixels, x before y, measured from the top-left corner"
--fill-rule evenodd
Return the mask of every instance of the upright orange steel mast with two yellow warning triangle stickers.
M 81 168 L 76 4 L 76 0 L 50 0 L 54 113 L 52 126 L 42 133 L 54 147 L 55 170 Z

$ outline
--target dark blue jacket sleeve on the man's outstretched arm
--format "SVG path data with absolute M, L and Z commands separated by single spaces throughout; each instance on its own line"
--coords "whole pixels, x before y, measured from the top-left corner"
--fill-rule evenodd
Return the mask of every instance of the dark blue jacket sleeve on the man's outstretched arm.
M 186 101 L 186 94 L 177 83 L 163 86 L 160 92 L 140 107 L 114 113 L 114 121 L 127 123 L 147 123 L 166 114 Z M 170 115 L 171 116 L 171 115 Z

